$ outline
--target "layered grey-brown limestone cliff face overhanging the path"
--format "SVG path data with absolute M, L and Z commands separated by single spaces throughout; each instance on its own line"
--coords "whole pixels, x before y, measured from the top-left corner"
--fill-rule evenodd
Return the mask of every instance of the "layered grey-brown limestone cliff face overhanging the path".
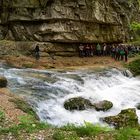
M 138 0 L 0 0 L 0 39 L 122 42 Z

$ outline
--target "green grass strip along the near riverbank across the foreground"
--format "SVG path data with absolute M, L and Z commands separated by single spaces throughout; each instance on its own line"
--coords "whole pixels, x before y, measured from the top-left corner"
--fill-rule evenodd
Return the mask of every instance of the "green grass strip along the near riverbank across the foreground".
M 5 115 L 0 112 L 0 118 Z M 17 139 L 22 134 L 28 135 L 31 133 L 37 133 L 40 130 L 46 130 L 52 128 L 50 125 L 41 123 L 34 119 L 33 116 L 21 116 L 19 118 L 20 123 L 10 127 L 1 127 L 0 135 L 7 135 L 11 133 Z M 109 134 L 109 135 L 108 135 Z M 81 138 L 91 138 L 95 136 L 102 136 L 103 139 L 111 137 L 115 140 L 129 140 L 136 139 L 140 137 L 140 130 L 138 128 L 121 128 L 119 130 L 114 130 L 108 127 L 101 127 L 99 125 L 93 125 L 91 123 L 85 122 L 84 126 L 75 126 L 69 124 L 61 128 L 55 128 L 53 133 L 54 140 L 80 140 Z

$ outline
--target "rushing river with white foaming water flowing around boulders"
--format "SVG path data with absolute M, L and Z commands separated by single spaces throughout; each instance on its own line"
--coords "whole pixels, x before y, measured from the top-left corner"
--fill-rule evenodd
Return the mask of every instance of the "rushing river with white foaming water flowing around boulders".
M 135 108 L 140 103 L 140 78 L 127 77 L 117 69 L 66 72 L 1 68 L 0 74 L 8 79 L 8 87 L 13 93 L 29 100 L 42 121 L 53 125 L 84 121 L 102 123 L 100 117 L 116 115 L 122 109 Z M 79 96 L 93 103 L 111 101 L 113 108 L 107 112 L 64 109 L 67 99 Z M 140 120 L 140 110 L 137 115 Z

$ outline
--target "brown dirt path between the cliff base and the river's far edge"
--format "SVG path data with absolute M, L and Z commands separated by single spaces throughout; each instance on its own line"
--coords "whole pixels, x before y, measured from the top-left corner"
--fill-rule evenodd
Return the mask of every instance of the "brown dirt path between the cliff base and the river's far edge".
M 78 67 L 118 67 L 122 68 L 122 61 L 115 61 L 111 57 L 47 57 L 35 60 L 33 57 L 25 56 L 7 56 L 3 61 L 13 67 L 36 68 L 36 69 L 61 69 L 61 68 L 78 68 Z

